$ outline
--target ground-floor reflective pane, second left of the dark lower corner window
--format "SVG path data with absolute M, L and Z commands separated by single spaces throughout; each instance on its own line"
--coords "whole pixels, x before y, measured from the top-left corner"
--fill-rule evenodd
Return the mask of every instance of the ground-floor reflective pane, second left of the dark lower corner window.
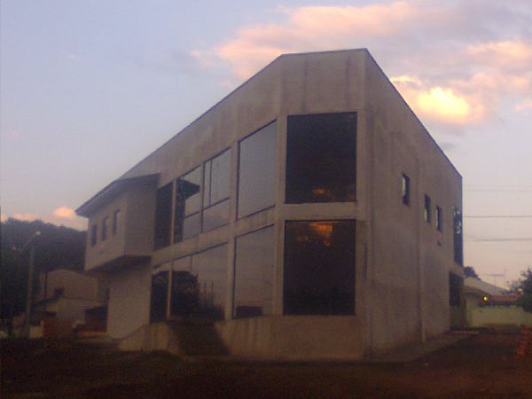
M 222 320 L 227 287 L 227 245 L 192 256 L 198 316 Z

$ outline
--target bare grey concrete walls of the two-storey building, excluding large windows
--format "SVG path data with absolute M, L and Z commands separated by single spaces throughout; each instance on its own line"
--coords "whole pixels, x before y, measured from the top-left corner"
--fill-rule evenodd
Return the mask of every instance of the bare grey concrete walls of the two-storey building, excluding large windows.
M 288 115 L 352 112 L 357 117 L 356 200 L 286 204 Z M 272 121 L 277 132 L 275 203 L 238 218 L 239 142 Z M 229 222 L 153 250 L 156 189 L 227 149 Z M 408 205 L 402 201 L 403 174 L 411 183 Z M 425 195 L 433 210 L 442 209 L 440 229 L 424 218 Z M 370 53 L 361 49 L 280 56 L 88 200 L 78 214 L 89 218 L 86 270 L 111 281 L 113 338 L 149 328 L 152 270 L 227 244 L 225 317 L 215 329 L 231 354 L 357 359 L 449 330 L 449 274 L 462 276 L 462 266 L 454 261 L 453 209 L 461 207 L 458 171 Z M 102 241 L 102 220 L 112 221 L 117 209 L 118 232 Z M 355 312 L 285 316 L 286 221 L 322 220 L 356 221 Z M 94 245 L 93 225 L 98 226 Z M 235 240 L 267 226 L 274 229 L 271 314 L 235 318 Z

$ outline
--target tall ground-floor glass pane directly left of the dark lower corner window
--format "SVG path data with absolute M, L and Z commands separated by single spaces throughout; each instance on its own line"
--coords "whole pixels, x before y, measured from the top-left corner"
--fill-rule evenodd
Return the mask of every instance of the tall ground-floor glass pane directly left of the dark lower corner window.
M 234 316 L 270 315 L 273 280 L 273 227 L 237 239 Z

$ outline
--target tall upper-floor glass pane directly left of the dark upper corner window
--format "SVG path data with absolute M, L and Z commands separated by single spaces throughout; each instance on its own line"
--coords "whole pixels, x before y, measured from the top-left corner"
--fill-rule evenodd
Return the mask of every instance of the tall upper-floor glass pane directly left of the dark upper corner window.
M 277 123 L 258 130 L 239 145 L 239 217 L 275 203 Z

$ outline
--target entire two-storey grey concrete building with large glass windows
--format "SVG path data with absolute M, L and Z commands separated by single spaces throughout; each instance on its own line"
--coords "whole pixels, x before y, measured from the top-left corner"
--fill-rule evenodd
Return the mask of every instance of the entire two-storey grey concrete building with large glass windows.
M 129 348 L 203 321 L 238 356 L 356 359 L 450 329 L 461 207 L 361 49 L 278 57 L 77 213 Z

